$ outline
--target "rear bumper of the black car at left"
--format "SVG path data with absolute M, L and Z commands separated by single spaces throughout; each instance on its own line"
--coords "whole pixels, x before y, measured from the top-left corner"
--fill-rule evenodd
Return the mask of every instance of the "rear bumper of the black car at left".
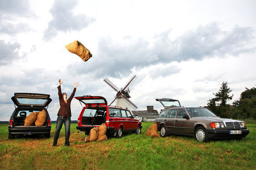
M 10 134 L 48 134 L 51 132 L 51 128 L 11 128 L 8 129 Z

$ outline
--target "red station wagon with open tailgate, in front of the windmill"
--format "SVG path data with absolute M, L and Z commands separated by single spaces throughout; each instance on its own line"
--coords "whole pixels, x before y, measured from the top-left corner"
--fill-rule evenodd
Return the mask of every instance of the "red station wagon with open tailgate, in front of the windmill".
M 117 106 L 107 106 L 107 100 L 101 96 L 75 97 L 85 104 L 83 107 L 76 129 L 89 134 L 94 127 L 100 127 L 105 123 L 107 134 L 121 138 L 124 132 L 141 133 L 142 124 L 135 119 L 128 109 Z

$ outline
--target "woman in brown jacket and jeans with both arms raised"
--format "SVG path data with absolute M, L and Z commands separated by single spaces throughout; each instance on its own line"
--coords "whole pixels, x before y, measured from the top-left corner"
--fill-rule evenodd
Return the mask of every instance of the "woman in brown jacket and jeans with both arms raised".
M 70 135 L 70 121 L 71 121 L 71 109 L 70 109 L 70 103 L 71 100 L 74 98 L 76 87 L 79 85 L 78 82 L 74 83 L 75 88 L 73 90 L 73 93 L 70 95 L 69 99 L 67 99 L 67 93 L 61 93 L 60 85 L 63 82 L 61 82 L 61 79 L 59 79 L 59 86 L 58 86 L 58 94 L 59 94 L 59 112 L 58 112 L 58 118 L 57 118 L 57 124 L 56 124 L 56 130 L 53 140 L 53 146 L 57 145 L 57 141 L 59 139 L 59 132 L 62 128 L 62 124 L 64 123 L 65 126 L 65 146 L 69 146 L 69 135 Z

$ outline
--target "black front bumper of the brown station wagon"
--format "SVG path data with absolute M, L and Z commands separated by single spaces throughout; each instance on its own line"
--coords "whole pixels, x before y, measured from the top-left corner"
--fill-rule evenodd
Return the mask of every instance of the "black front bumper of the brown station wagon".
M 237 130 L 237 129 L 230 129 Z M 230 130 L 214 130 L 207 129 L 208 137 L 211 139 L 230 139 L 230 138 L 244 138 L 247 134 L 249 134 L 248 129 L 239 129 L 241 130 L 241 134 L 230 134 Z

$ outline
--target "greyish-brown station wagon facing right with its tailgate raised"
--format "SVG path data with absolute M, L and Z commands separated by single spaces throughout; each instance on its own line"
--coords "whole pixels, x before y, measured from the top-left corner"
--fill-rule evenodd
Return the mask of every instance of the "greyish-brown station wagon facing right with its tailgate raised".
M 198 141 L 208 139 L 240 139 L 249 134 L 243 121 L 220 118 L 207 108 L 182 107 L 179 100 L 157 98 L 165 109 L 155 119 L 160 136 L 179 134 Z

